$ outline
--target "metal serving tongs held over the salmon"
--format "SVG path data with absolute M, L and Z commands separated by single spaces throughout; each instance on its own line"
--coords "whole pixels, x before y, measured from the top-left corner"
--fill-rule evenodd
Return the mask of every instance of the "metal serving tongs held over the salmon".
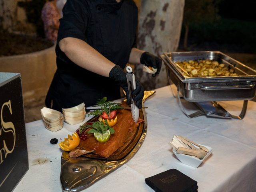
M 131 111 L 132 111 L 132 119 L 134 122 L 137 122 L 139 119 L 139 108 L 135 105 L 135 102 L 133 100 L 132 91 L 136 89 L 136 82 L 135 82 L 135 76 L 132 72 L 132 68 L 130 66 L 126 67 L 126 78 L 127 78 L 127 84 L 128 84 L 128 92 L 131 100 Z

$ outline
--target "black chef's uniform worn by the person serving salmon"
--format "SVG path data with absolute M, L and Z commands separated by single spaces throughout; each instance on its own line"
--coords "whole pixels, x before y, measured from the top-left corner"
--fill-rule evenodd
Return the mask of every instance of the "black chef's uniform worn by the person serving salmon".
M 121 68 L 136 47 L 138 8 L 132 0 L 67 0 L 56 44 L 57 71 L 46 96 L 46 106 L 61 111 L 82 102 L 86 106 L 108 97 L 120 98 L 120 87 L 110 78 L 74 64 L 58 46 L 66 37 L 87 42 Z

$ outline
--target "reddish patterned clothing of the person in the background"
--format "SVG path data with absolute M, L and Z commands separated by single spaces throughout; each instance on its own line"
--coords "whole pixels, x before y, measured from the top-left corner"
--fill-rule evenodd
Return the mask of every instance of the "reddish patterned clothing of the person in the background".
M 42 8 L 41 18 L 44 22 L 44 34 L 48 40 L 56 41 L 60 26 L 60 14 L 52 2 L 46 2 Z

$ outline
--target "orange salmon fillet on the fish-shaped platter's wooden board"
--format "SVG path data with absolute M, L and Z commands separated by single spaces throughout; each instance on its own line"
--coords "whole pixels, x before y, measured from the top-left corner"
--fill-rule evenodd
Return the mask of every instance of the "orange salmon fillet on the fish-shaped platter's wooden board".
M 126 140 L 129 130 L 134 130 L 138 127 L 138 123 L 132 120 L 130 110 L 118 110 L 118 121 L 113 126 L 115 132 L 110 136 L 107 142 L 100 143 L 94 138 L 94 134 L 88 134 L 88 139 L 80 140 L 79 146 L 69 153 L 69 156 L 76 158 L 83 154 L 95 152 L 99 156 L 108 158 L 113 154 Z M 89 129 L 88 129 L 89 130 Z

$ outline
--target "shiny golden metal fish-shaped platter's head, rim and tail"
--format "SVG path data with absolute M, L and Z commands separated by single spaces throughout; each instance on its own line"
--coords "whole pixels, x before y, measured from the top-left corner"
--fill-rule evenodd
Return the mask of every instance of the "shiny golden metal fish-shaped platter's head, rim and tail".
M 155 91 L 144 91 L 142 105 L 144 105 L 145 100 L 154 93 Z M 61 156 L 60 173 L 62 190 L 65 192 L 78 192 L 84 190 L 130 160 L 139 150 L 146 137 L 148 123 L 145 109 L 140 110 L 140 117 L 142 116 L 144 119 L 144 125 L 140 139 L 131 152 L 122 160 L 108 161 L 86 157 L 70 158 L 68 156 L 68 152 L 63 151 Z

